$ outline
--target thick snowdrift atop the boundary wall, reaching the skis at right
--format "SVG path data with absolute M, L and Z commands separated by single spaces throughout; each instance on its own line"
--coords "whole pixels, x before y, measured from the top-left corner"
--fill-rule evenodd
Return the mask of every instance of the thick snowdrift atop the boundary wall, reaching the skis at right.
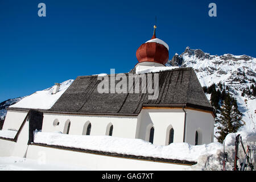
M 256 130 L 241 131 L 229 134 L 226 137 L 226 152 L 228 152 L 228 163 L 226 169 L 232 170 L 234 161 L 234 141 L 236 136 L 241 134 L 244 146 L 247 144 L 255 146 Z M 53 146 L 65 146 L 81 148 L 85 150 L 112 152 L 124 155 L 147 156 L 153 158 L 177 159 L 197 162 L 188 170 L 221 170 L 223 146 L 221 143 L 213 142 L 193 146 L 188 143 L 171 143 L 168 146 L 155 146 L 142 139 L 127 139 L 110 136 L 90 135 L 67 135 L 61 133 L 36 132 L 35 143 L 48 144 Z M 238 156 L 241 163 L 243 159 L 242 147 L 239 148 Z M 254 154 L 253 165 L 255 166 Z

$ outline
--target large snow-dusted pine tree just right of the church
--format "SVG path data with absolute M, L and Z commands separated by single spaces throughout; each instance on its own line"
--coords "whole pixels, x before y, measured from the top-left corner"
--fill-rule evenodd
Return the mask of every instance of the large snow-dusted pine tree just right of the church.
M 226 99 L 221 107 L 221 115 L 216 119 L 217 133 L 220 136 L 217 137 L 218 142 L 223 142 L 226 135 L 229 133 L 236 133 L 243 123 L 241 122 L 242 114 L 237 108 L 237 102 L 229 94 L 226 94 Z

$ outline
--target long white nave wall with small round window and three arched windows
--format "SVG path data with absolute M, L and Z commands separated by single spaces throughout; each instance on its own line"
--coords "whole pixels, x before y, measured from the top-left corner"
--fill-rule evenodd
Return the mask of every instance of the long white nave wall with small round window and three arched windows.
M 58 119 L 59 125 L 54 126 L 53 122 Z M 88 125 L 88 121 L 92 127 L 90 135 L 106 135 L 106 130 L 110 123 L 113 125 L 113 137 L 135 138 L 137 128 L 137 117 L 129 116 L 93 116 L 80 114 L 54 114 L 44 113 L 43 132 L 58 132 L 63 133 L 66 121 L 71 122 L 69 134 L 82 135 L 84 125 Z

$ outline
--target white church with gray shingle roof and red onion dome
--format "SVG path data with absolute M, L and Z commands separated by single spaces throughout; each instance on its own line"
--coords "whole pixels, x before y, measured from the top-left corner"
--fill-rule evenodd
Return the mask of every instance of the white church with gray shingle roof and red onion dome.
M 16 133 L 13 138 L 0 135 L 0 156 L 28 156 L 35 130 L 142 139 L 155 146 L 213 142 L 213 107 L 192 68 L 165 66 L 169 47 L 156 38 L 156 26 L 152 38 L 137 49 L 136 56 L 138 63 L 129 73 L 79 76 L 65 90 L 55 84 L 48 97 L 58 97 L 49 107 L 40 107 L 43 101 L 36 100 L 36 94 L 23 100 L 34 97 L 37 107 L 20 105 L 22 100 L 10 106 L 2 131 Z M 125 88 L 123 83 L 128 82 Z M 110 92 L 100 92 L 99 88 L 106 91 L 108 83 L 119 85 L 121 92 L 117 87 L 111 92 L 111 86 Z M 136 85 L 138 92 L 134 91 Z M 155 97 L 150 97 L 153 94 Z

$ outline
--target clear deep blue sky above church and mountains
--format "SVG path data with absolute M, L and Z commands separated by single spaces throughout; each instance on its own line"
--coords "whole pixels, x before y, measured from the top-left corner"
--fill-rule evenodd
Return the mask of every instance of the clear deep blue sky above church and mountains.
M 46 4 L 46 17 L 38 4 Z M 217 5 L 217 17 L 208 5 Z M 0 102 L 77 76 L 129 72 L 152 36 L 170 47 L 256 57 L 256 1 L 0 1 Z

